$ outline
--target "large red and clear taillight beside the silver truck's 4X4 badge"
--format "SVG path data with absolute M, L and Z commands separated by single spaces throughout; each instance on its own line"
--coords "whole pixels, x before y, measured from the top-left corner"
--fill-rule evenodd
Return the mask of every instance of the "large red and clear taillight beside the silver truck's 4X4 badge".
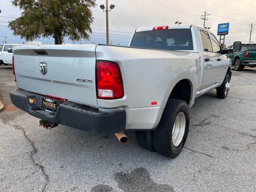
M 124 96 L 118 64 L 109 61 L 97 61 L 96 77 L 97 98 L 118 99 Z

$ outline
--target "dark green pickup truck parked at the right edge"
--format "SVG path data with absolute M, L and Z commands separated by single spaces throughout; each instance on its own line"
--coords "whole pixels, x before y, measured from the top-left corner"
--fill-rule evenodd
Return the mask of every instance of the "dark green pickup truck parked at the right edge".
M 233 45 L 227 49 L 233 49 Z M 236 71 L 241 71 L 246 65 L 256 67 L 256 44 L 242 44 L 240 52 L 227 54 Z

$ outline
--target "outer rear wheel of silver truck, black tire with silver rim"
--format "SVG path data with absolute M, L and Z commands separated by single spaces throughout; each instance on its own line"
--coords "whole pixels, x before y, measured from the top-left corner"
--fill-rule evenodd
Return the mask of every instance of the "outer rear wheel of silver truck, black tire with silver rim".
M 176 124 L 174 124 L 175 122 Z M 176 134 L 174 133 L 173 135 L 174 126 L 178 134 L 175 132 Z M 156 151 L 170 158 L 178 156 L 186 142 L 188 128 L 188 104 L 183 100 L 170 99 L 166 104 L 160 124 L 154 130 L 154 146 Z

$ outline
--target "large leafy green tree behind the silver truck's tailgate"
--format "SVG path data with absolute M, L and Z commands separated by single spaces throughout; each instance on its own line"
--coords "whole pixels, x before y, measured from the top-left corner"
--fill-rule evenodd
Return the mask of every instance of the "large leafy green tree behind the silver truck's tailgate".
M 9 27 L 15 36 L 28 41 L 36 38 L 54 38 L 62 44 L 64 37 L 70 40 L 89 40 L 93 22 L 91 7 L 95 0 L 12 0 L 22 10 L 19 18 Z

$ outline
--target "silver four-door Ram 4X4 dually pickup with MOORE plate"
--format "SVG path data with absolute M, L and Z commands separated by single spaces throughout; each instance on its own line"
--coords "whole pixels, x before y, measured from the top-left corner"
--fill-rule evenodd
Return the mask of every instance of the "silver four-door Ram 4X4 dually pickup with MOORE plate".
M 142 148 L 170 158 L 186 142 L 195 98 L 212 89 L 226 98 L 230 90 L 227 50 L 194 25 L 137 29 L 129 46 L 17 46 L 13 54 L 18 89 L 10 98 L 40 126 L 116 134 L 121 142 L 132 130 Z

